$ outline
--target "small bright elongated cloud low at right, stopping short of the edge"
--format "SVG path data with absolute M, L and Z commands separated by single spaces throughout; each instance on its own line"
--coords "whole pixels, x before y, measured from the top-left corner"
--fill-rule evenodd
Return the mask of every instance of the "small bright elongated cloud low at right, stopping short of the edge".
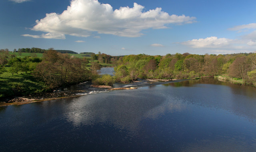
M 228 46 L 233 42 L 233 39 L 217 38 L 212 36 L 205 39 L 192 39 L 189 41 L 182 42 L 181 44 L 188 45 L 189 47 L 193 48 L 220 48 Z

